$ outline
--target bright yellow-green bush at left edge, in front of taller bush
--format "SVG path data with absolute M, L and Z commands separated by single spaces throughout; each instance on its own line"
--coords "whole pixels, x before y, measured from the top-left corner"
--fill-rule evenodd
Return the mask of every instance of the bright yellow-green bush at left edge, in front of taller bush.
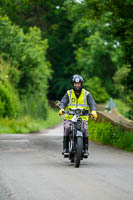
M 21 112 L 17 91 L 11 86 L 10 65 L 0 58 L 0 117 L 16 118 Z

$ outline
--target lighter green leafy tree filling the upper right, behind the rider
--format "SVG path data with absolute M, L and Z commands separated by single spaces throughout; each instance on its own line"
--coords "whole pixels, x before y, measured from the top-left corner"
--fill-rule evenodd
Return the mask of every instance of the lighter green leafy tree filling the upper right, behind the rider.
M 66 9 L 73 24 L 71 41 L 75 48 L 76 70 L 88 78 L 97 76 L 109 95 L 118 97 L 115 92 L 118 85 L 115 85 L 113 76 L 116 77 L 116 71 L 123 66 L 130 67 L 121 87 L 125 85 L 125 94 L 131 99 L 133 2 L 84 0 L 76 3 L 71 0 L 66 2 Z

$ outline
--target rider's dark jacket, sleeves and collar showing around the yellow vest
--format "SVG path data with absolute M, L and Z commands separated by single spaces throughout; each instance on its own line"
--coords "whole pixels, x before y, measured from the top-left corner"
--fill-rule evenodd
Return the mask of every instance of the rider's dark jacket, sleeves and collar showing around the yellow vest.
M 80 94 L 79 95 L 75 94 L 75 95 L 76 95 L 77 98 L 80 96 Z M 64 97 L 61 99 L 61 102 L 60 102 L 60 105 L 59 105 L 60 109 L 65 109 L 68 103 L 69 103 L 69 97 L 68 97 L 68 94 L 66 92 Z M 90 108 L 90 111 L 92 111 L 92 110 L 96 111 L 96 102 L 95 102 L 95 100 L 93 99 L 93 97 L 90 93 L 87 95 L 87 103 L 88 103 L 88 106 Z

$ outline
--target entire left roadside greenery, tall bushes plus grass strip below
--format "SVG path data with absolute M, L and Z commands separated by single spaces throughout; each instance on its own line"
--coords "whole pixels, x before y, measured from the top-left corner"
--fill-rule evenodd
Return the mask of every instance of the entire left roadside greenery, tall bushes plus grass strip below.
M 25 34 L 7 16 L 0 16 L 1 133 L 26 133 L 47 128 L 47 123 L 56 124 L 48 116 L 47 90 L 52 70 L 46 59 L 47 48 L 47 39 L 41 38 L 37 27 Z

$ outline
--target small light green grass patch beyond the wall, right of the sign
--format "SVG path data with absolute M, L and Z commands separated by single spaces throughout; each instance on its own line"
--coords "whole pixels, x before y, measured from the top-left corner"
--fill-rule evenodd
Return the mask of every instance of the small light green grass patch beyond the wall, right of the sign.
M 127 112 L 130 110 L 130 107 L 126 105 L 126 103 L 121 101 L 120 99 L 115 99 L 114 101 L 115 101 L 118 112 L 124 117 L 127 117 Z

